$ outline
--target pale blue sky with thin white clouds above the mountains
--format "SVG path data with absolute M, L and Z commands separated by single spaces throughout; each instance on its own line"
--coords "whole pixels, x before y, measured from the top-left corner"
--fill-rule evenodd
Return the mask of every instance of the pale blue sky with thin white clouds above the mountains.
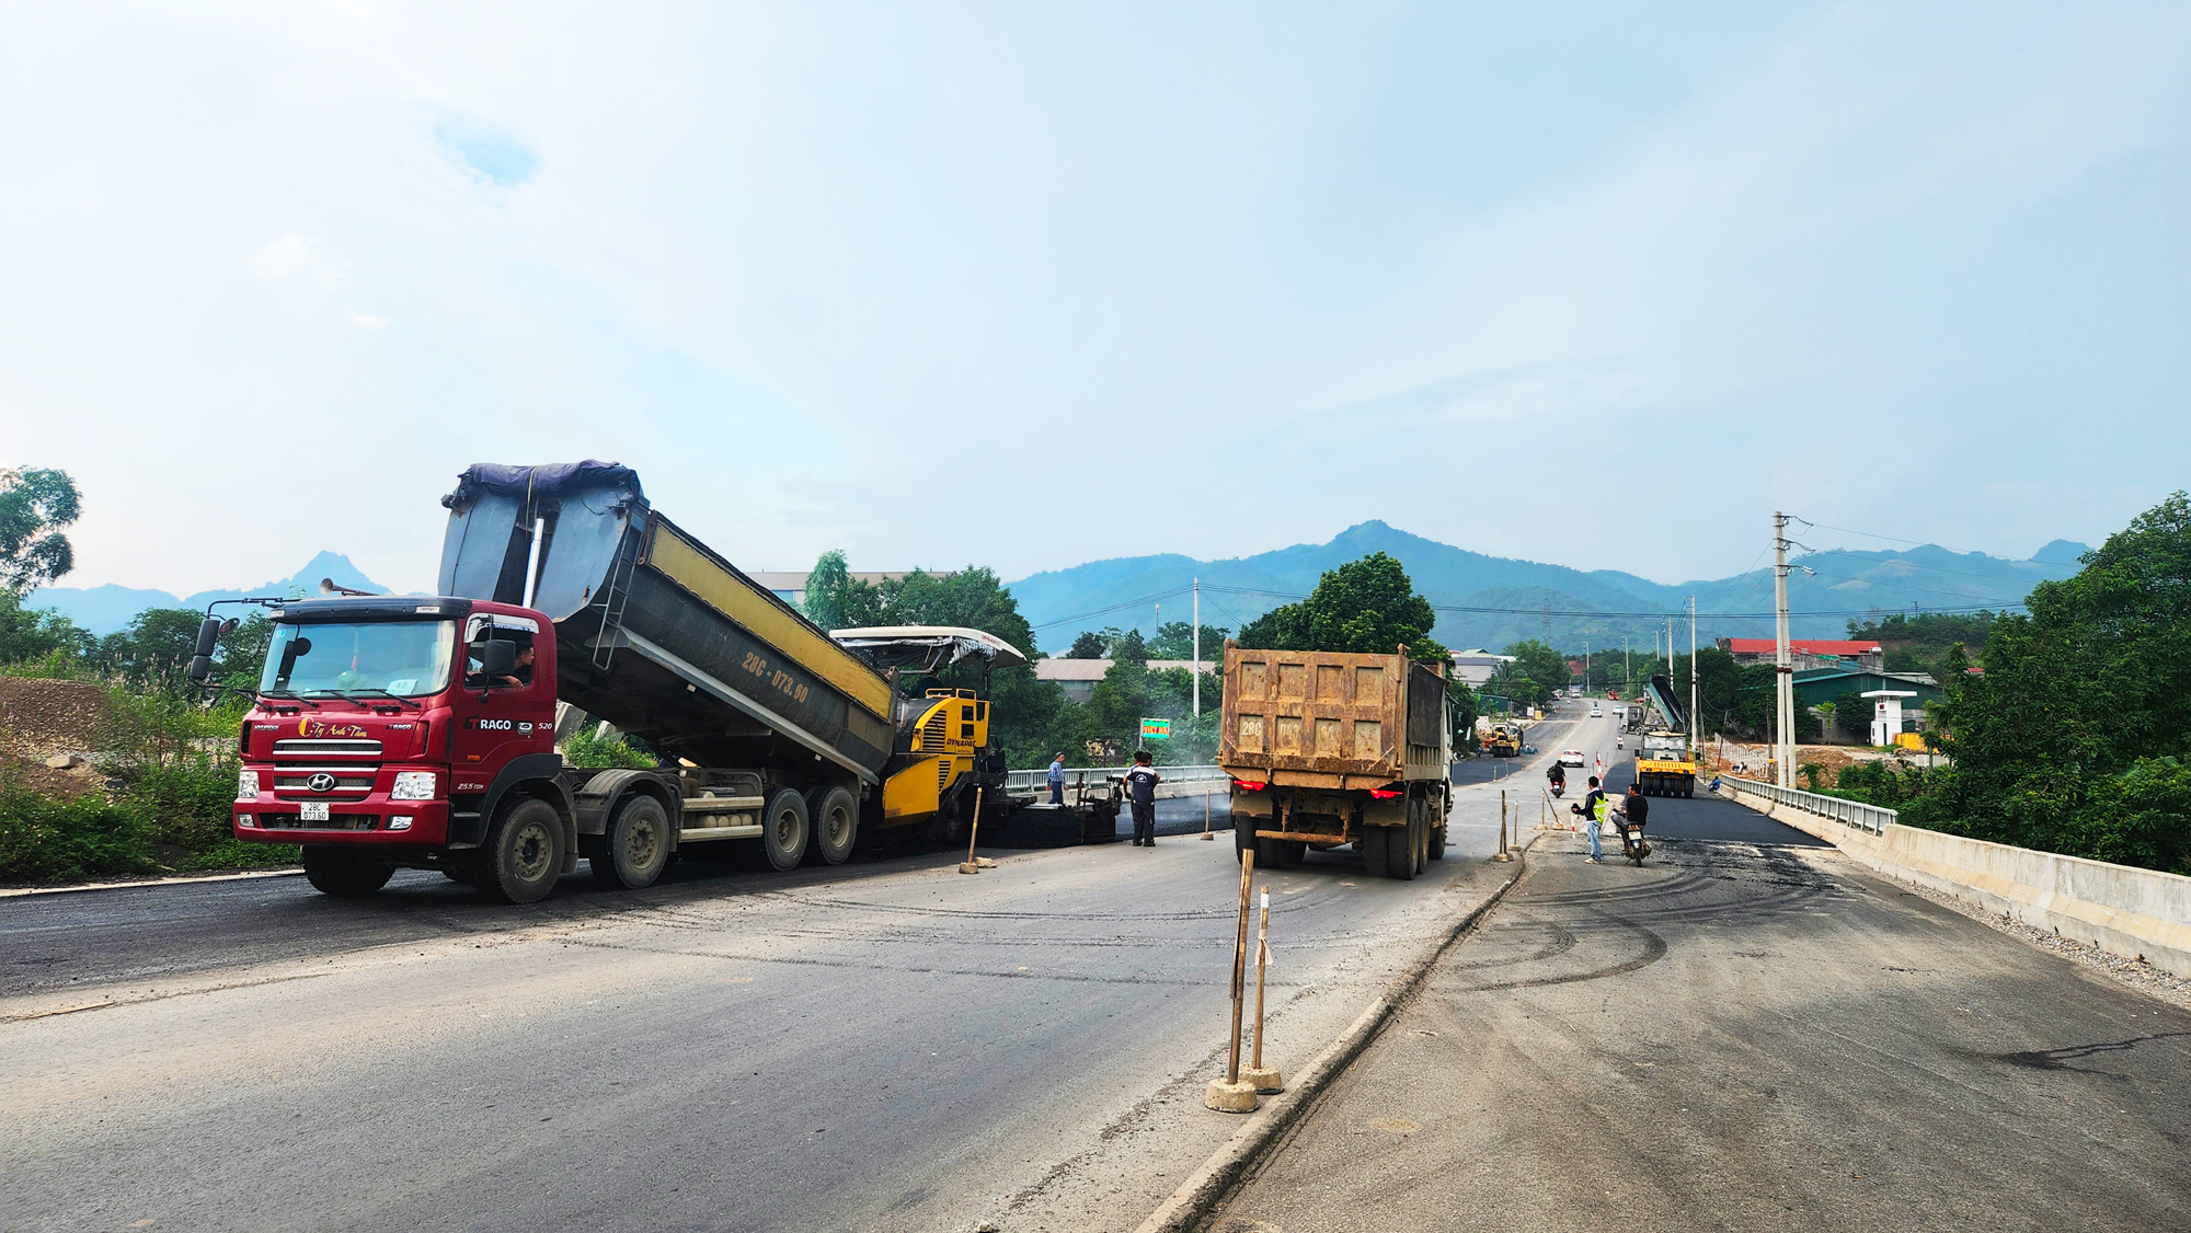
M 4 26 L 0 464 L 77 475 L 72 585 L 427 585 L 473 460 L 1006 576 L 1376 517 L 1680 580 L 1773 508 L 2024 556 L 2187 484 L 2182 4 Z

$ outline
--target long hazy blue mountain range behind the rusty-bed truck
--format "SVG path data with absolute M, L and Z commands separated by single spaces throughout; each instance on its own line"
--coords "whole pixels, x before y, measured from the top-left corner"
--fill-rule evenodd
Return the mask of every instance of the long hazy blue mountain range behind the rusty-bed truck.
M 2031 591 L 2033 583 L 2066 578 L 2079 569 L 2081 543 L 2055 541 L 2033 561 L 2007 561 L 1981 552 L 1946 548 L 1906 548 L 1897 552 L 1819 552 L 1801 556 L 1808 569 L 1788 580 L 1788 609 L 1797 637 L 1843 637 L 1847 620 L 1867 613 L 1941 609 L 1963 604 L 2009 607 Z M 1290 596 L 1306 596 L 1317 578 L 1337 565 L 1369 552 L 1398 556 L 1415 589 L 1442 609 L 1437 639 L 1461 646 L 1505 646 L 1521 637 L 1545 637 L 1564 650 L 1617 646 L 1650 646 L 1665 633 L 1663 615 L 1678 613 L 1696 596 L 1698 642 L 1711 637 L 1773 635 L 1773 567 L 1733 578 L 1694 583 L 1652 583 L 1617 569 L 1582 572 L 1567 565 L 1542 565 L 1510 556 L 1485 556 L 1418 534 L 1407 534 L 1383 521 L 1365 521 L 1339 532 L 1330 543 L 1299 543 L 1258 556 L 1231 561 L 1194 561 L 1188 556 L 1124 556 L 1091 561 L 1071 569 L 1034 574 L 1012 583 L 1019 611 L 1036 626 L 1043 650 L 1060 650 L 1082 629 L 1137 626 L 1155 631 L 1155 600 L 1166 591 L 1203 580 L 1203 622 L 1238 629 Z M 1238 594 L 1266 591 L 1266 594 Z M 1131 607 L 1117 611 L 1113 604 Z M 1188 618 L 1188 596 L 1161 600 L 1163 620 Z M 1553 615 L 1545 618 L 1545 611 Z M 1571 615 L 1573 613 L 1573 615 Z M 1803 615 L 1810 613 L 1810 615 Z M 1674 642 L 1689 644 L 1687 620 L 1676 622 Z

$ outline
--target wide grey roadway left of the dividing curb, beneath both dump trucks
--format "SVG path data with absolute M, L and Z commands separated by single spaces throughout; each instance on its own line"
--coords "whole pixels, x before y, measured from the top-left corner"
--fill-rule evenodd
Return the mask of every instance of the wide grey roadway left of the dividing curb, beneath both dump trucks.
M 1258 876 L 1273 1062 L 1510 876 L 1496 793 L 1459 802 L 1426 878 Z M 1234 848 L 990 854 L 532 907 L 427 874 L 0 902 L 0 1224 L 1133 1229 L 1238 1126 L 1201 1108 Z

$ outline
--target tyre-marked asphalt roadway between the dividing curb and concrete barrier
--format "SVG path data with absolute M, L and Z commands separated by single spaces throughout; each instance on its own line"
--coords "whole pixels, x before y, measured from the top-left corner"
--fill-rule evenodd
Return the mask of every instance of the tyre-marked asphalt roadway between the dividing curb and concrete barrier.
M 1538 843 L 1209 1229 L 2191 1229 L 2191 1014 L 1652 806 L 1641 869 Z

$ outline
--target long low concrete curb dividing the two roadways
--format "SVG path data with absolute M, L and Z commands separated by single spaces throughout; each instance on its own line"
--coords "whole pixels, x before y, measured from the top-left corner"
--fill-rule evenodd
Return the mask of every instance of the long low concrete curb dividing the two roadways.
M 1306 1069 L 1293 1080 L 1293 1086 L 1284 1095 L 1275 1095 L 1264 1102 L 1264 1106 L 1247 1117 L 1240 1130 L 1234 1130 L 1231 1139 L 1223 1148 L 1209 1154 L 1207 1161 L 1188 1180 L 1179 1183 L 1172 1198 L 1163 1200 L 1163 1207 L 1152 1211 L 1135 1233 L 1192 1233 L 1209 1218 L 1212 1209 L 1234 1191 L 1234 1185 L 1242 1180 L 1255 1156 L 1277 1139 L 1286 1128 L 1299 1121 L 1301 1113 L 1315 1104 L 1317 1095 L 1347 1069 L 1347 1062 L 1361 1056 L 1363 1049 L 1376 1040 L 1376 1034 L 1391 1018 L 1393 1010 L 1400 1007 L 1413 994 L 1422 981 L 1431 975 L 1431 968 L 1444 959 L 1446 950 L 1453 948 L 1464 935 L 1468 935 L 1483 913 L 1499 907 L 1514 883 L 1529 867 L 1529 848 L 1536 845 L 1532 837 L 1527 845 L 1516 850 L 1516 861 L 1512 865 L 1512 876 L 1499 885 L 1483 902 L 1468 911 L 1461 920 L 1453 924 L 1446 937 L 1431 948 L 1429 955 L 1409 964 L 1400 977 L 1385 988 L 1385 992 L 1372 1001 L 1356 1018 L 1339 1034 L 1330 1045 L 1319 1051 Z

